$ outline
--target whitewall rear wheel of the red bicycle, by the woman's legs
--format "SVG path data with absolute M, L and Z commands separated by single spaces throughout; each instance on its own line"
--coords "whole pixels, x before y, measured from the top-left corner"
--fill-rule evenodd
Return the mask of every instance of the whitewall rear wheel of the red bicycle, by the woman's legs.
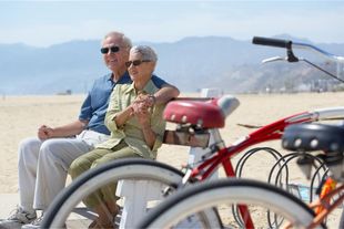
M 181 183 L 183 173 L 169 165 L 142 158 L 127 158 L 109 163 L 91 169 L 68 186 L 52 202 L 42 221 L 42 228 L 87 228 L 91 222 L 90 216 L 84 218 L 75 214 L 82 206 L 82 199 L 107 184 L 120 179 L 153 180 L 161 184 L 161 188 L 170 187 L 172 191 Z M 118 202 L 120 202 L 119 200 Z M 156 202 L 155 202 L 156 205 Z M 84 215 L 85 212 L 83 212 Z M 221 225 L 217 214 L 212 209 L 200 214 L 210 221 L 210 227 Z M 94 218 L 97 216 L 93 216 Z M 198 220 L 198 219 L 196 219 Z

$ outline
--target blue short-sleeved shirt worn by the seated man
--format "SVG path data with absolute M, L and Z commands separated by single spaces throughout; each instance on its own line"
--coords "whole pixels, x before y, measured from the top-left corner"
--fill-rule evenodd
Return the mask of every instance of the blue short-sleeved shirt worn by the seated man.
M 79 119 L 89 121 L 87 128 L 108 135 L 110 135 L 110 132 L 104 125 L 104 118 L 110 94 L 115 84 L 132 83 L 128 72 L 125 72 L 118 82 L 113 82 L 111 76 L 112 74 L 110 73 L 94 81 L 91 91 L 88 93 L 81 106 L 79 115 Z M 159 89 L 161 89 L 163 84 L 166 84 L 165 81 L 155 75 L 152 76 L 152 81 Z

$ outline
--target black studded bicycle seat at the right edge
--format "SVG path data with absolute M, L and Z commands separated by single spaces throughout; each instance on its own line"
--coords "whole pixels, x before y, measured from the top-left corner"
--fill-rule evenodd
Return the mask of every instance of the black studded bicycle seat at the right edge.
M 286 127 L 282 146 L 294 152 L 344 152 L 344 127 L 328 124 L 295 124 Z

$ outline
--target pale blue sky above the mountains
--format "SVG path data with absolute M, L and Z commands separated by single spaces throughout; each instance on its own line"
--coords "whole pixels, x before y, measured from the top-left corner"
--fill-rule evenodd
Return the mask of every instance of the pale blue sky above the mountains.
M 134 42 L 206 35 L 251 40 L 287 33 L 344 43 L 343 25 L 343 0 L 0 0 L 0 43 L 33 46 L 101 40 L 112 30 Z

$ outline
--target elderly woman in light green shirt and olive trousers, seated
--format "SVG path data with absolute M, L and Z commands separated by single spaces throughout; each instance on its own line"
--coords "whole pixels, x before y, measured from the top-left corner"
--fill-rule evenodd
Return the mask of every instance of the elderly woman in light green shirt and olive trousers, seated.
M 164 105 L 154 105 L 154 96 L 159 89 L 151 81 L 156 64 L 155 52 L 145 45 L 133 46 L 125 63 L 132 84 L 118 84 L 110 97 L 105 116 L 105 125 L 111 131 L 111 138 L 78 159 L 70 174 L 74 179 L 90 168 L 110 160 L 125 157 L 156 157 L 156 149 L 162 145 L 165 122 L 162 119 Z M 109 212 L 118 214 L 118 197 L 114 185 L 107 185 L 84 199 L 98 219 L 90 228 L 113 228 Z

